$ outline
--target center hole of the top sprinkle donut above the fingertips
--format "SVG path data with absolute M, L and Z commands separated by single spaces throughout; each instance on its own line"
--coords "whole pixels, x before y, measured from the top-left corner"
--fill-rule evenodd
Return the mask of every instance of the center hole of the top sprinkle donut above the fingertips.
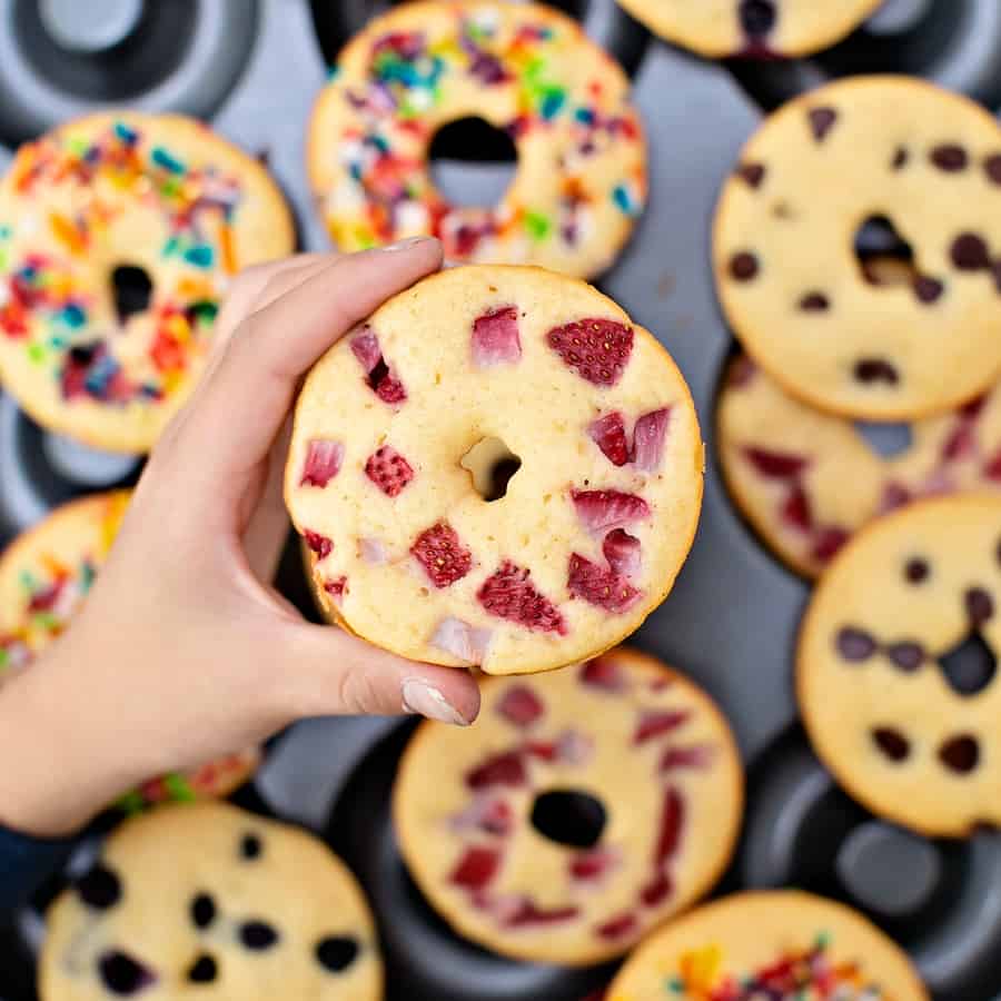
M 458 118 L 435 132 L 428 150 L 432 182 L 453 206 L 493 208 L 517 169 L 507 132 L 483 118 Z

